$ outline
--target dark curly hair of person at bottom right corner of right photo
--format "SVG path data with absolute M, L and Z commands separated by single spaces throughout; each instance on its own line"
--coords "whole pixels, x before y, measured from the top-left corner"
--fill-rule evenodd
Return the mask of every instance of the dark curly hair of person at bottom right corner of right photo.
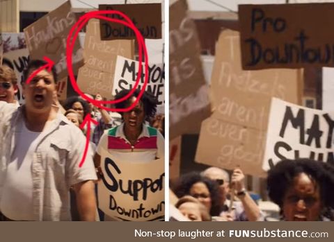
M 282 209 L 285 193 L 300 173 L 310 175 L 317 182 L 324 209 L 333 209 L 334 168 L 331 164 L 312 159 L 285 159 L 271 168 L 267 178 L 269 198 Z

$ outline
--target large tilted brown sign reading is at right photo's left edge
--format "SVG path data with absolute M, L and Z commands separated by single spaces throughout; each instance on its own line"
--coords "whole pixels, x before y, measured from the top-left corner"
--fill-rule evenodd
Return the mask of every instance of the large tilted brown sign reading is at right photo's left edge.
M 196 26 L 186 14 L 186 1 L 176 1 L 169 11 L 169 125 L 173 139 L 198 133 L 202 120 L 211 114 L 211 107 L 200 60 L 200 42 Z

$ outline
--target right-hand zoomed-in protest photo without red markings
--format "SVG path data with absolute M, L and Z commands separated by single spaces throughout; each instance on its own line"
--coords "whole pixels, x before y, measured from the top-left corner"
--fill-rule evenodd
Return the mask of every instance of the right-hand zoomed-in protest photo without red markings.
M 334 221 L 334 5 L 267 3 L 169 6 L 170 221 Z

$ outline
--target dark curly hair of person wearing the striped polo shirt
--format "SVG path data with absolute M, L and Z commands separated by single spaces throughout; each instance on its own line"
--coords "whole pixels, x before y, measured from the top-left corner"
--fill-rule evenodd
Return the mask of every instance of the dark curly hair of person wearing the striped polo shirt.
M 116 94 L 115 96 L 115 100 L 118 100 L 124 96 L 126 96 L 127 94 L 129 94 L 131 90 L 129 89 L 123 89 L 122 91 L 118 92 L 118 94 Z M 140 90 L 136 89 L 134 91 L 134 93 L 129 96 L 129 98 L 127 98 L 127 100 L 122 101 L 120 103 L 116 103 L 115 107 L 116 108 L 125 108 L 129 106 L 129 99 L 134 97 L 138 97 L 140 93 Z M 157 98 L 155 98 L 155 96 L 150 93 L 145 91 L 143 93 L 143 96 L 141 96 L 141 103 L 143 103 L 144 105 L 144 112 L 145 112 L 145 120 L 146 121 L 150 121 L 150 119 L 152 119 L 155 114 L 157 113 Z M 120 112 L 120 115 L 123 115 L 123 112 Z

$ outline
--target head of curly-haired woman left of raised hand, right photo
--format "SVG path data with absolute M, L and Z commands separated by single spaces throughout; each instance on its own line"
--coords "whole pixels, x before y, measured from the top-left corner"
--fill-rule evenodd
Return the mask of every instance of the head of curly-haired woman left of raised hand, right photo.
M 216 182 L 205 178 L 200 173 L 184 174 L 177 181 L 174 189 L 178 198 L 190 195 L 198 199 L 209 211 L 211 216 L 218 216 L 221 211 L 221 195 Z

